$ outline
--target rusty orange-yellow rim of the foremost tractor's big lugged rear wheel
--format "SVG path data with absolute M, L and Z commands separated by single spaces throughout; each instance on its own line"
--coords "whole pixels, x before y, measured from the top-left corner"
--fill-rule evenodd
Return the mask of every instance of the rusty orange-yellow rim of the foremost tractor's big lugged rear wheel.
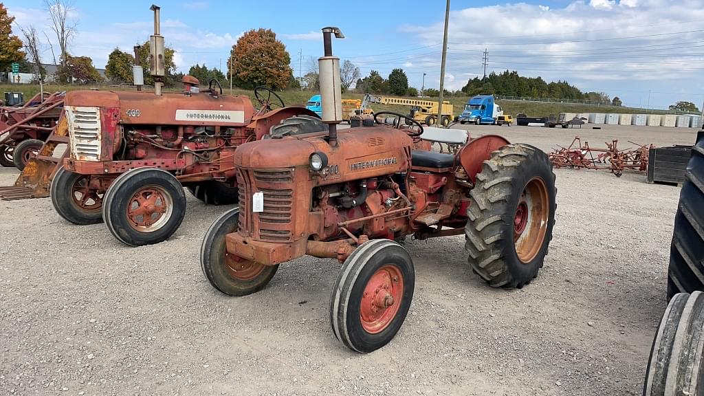
M 548 230 L 550 199 L 541 178 L 532 178 L 523 188 L 513 218 L 513 242 L 522 264 L 529 264 L 540 252 Z

